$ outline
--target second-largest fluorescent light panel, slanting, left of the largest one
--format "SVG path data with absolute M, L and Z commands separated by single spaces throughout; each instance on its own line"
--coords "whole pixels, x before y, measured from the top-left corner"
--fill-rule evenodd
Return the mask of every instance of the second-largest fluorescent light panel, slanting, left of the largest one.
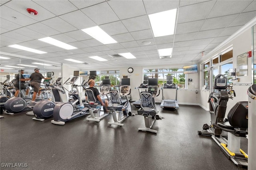
M 90 27 L 86 29 L 81 29 L 81 31 L 84 31 L 94 39 L 100 41 L 102 44 L 112 44 L 117 43 L 116 40 L 114 40 L 110 35 L 108 35 L 105 31 L 103 31 L 100 27 Z

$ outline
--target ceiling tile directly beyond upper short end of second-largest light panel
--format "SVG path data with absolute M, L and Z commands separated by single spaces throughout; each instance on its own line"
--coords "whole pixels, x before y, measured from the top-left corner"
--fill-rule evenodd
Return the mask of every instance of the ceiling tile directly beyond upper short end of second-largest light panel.
M 74 17 L 76 16 L 76 17 Z M 86 16 L 80 10 L 70 12 L 68 14 L 64 14 L 59 16 L 62 20 L 68 22 L 70 25 L 73 25 L 77 29 L 84 29 L 88 27 L 96 26 L 96 23 L 92 21 L 88 16 Z

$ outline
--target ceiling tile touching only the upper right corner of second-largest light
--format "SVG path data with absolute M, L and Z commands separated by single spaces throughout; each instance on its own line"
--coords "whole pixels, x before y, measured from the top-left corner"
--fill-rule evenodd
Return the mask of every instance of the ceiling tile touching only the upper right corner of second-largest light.
M 119 20 L 107 2 L 84 8 L 81 11 L 98 25 Z

